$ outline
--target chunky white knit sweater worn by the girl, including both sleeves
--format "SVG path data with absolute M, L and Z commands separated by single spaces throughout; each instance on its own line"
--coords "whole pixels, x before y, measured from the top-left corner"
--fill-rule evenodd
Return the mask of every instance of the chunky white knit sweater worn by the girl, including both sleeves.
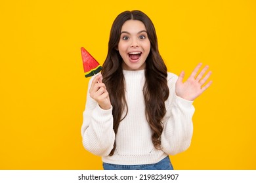
M 177 75 L 168 73 L 169 98 L 165 101 L 167 113 L 163 118 L 161 150 L 152 144 L 150 126 L 145 117 L 144 70 L 123 71 L 126 83 L 128 114 L 120 122 L 117 134 L 113 130 L 112 108 L 103 110 L 87 93 L 87 103 L 83 112 L 81 135 L 83 146 L 89 152 L 102 156 L 105 163 L 119 165 L 151 164 L 168 155 L 183 152 L 190 146 L 193 133 L 192 101 L 175 94 Z M 89 88 L 94 77 L 89 81 Z M 108 156 L 116 139 L 116 151 Z

